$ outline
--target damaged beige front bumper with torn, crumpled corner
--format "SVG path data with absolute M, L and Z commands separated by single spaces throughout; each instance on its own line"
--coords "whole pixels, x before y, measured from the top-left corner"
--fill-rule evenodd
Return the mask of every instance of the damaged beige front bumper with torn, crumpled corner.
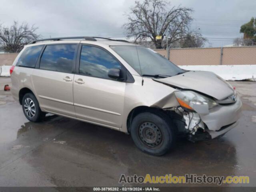
M 237 126 L 241 111 L 242 102 L 239 97 L 235 103 L 218 105 L 210 109 L 208 114 L 176 110 L 177 113 L 183 114 L 190 141 L 214 139 L 225 134 Z

